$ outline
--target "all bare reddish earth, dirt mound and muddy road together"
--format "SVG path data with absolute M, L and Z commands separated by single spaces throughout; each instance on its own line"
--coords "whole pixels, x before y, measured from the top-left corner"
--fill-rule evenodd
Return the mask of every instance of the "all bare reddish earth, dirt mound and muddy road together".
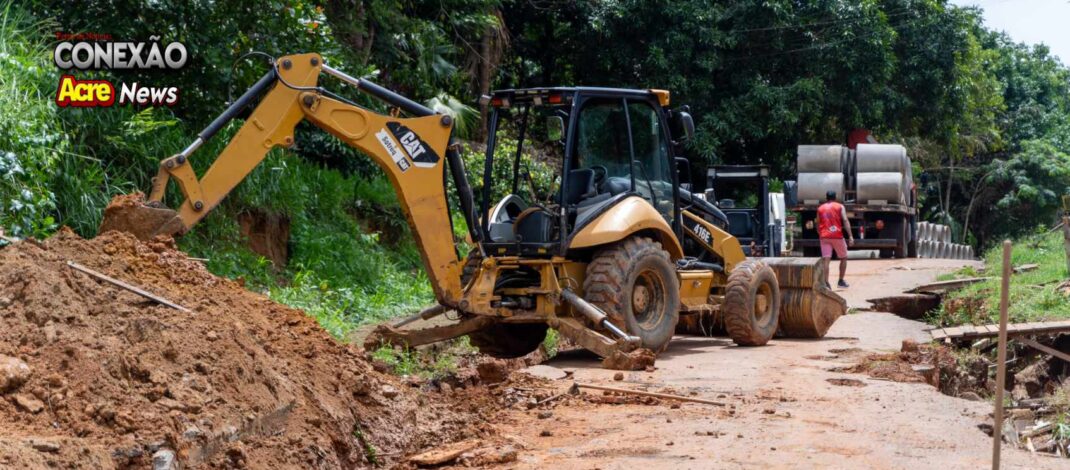
M 853 287 L 840 293 L 865 308 L 962 263 L 852 260 Z M 906 369 L 857 365 L 903 339 L 928 342 L 924 329 L 861 312 L 823 339 L 743 348 L 677 337 L 652 372 L 606 370 L 571 351 L 548 363 L 565 378 L 479 358 L 446 380 L 399 378 L 168 241 L 63 231 L 0 249 L 0 468 L 150 468 L 170 453 L 183 468 L 987 467 L 979 425 L 990 405 L 941 394 Z M 559 395 L 574 381 L 725 406 Z M 1004 456 L 1005 468 L 1065 465 Z

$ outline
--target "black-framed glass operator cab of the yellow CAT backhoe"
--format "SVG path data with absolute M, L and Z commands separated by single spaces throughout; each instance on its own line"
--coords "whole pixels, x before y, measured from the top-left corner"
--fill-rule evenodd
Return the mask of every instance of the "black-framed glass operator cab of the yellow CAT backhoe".
M 572 234 L 629 196 L 646 199 L 678 232 L 679 142 L 669 125 L 690 135 L 693 124 L 667 108 L 669 92 L 500 90 L 483 104 L 488 139 L 474 192 L 488 253 L 563 255 Z

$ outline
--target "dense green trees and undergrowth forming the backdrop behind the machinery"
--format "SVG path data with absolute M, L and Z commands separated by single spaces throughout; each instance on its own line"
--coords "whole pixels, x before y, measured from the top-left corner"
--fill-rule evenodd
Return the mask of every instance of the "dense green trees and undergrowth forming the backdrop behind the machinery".
M 373 77 L 450 113 L 458 137 L 468 140 L 464 160 L 477 191 L 480 94 L 587 85 L 663 88 L 673 106 L 690 105 L 699 127 L 687 149 L 694 175 L 707 164 L 761 161 L 776 181 L 792 179 L 797 145 L 839 142 L 852 128 L 872 130 L 882 141 L 910 148 L 924 217 L 950 224 L 956 241 L 978 252 L 1052 225 L 1059 196 L 1070 193 L 1070 71 L 1045 47 L 1014 43 L 985 29 L 976 9 L 946 0 L 273 0 L 256 6 L 0 0 L 0 226 L 17 237 L 47 237 L 61 225 L 94 236 L 113 195 L 147 189 L 160 158 L 185 147 L 265 72 L 261 57 L 243 57 L 254 49 L 320 51 L 351 75 Z M 61 72 L 50 59 L 57 31 L 182 41 L 189 62 L 181 71 L 76 73 L 177 86 L 180 104 L 58 108 L 52 96 Z M 387 111 L 337 80 L 323 85 Z M 198 171 L 239 125 L 192 157 Z M 498 197 L 510 189 L 502 177 L 511 177 L 516 137 L 500 141 Z M 338 337 L 432 302 L 408 224 L 379 169 L 311 125 L 302 124 L 295 139 L 293 149 L 272 152 L 180 241 L 182 248 L 209 258 L 217 274 L 304 308 Z M 539 197 L 556 191 L 547 157 L 555 151 L 524 151 L 522 167 Z M 526 196 L 526 184 L 520 191 Z M 248 248 L 241 214 L 289 221 L 286 266 Z M 465 253 L 465 227 L 454 218 Z M 1053 289 L 1045 284 L 1031 291 Z M 1017 307 L 1019 315 L 1067 309 L 1055 293 L 1029 302 Z M 951 321 L 990 314 L 981 305 L 944 315 Z

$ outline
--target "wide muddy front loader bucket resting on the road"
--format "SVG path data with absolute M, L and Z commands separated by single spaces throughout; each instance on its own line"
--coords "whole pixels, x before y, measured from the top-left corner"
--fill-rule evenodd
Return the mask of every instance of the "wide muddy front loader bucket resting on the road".
M 821 258 L 763 258 L 780 284 L 779 336 L 820 338 L 847 312 L 847 301 L 825 284 Z

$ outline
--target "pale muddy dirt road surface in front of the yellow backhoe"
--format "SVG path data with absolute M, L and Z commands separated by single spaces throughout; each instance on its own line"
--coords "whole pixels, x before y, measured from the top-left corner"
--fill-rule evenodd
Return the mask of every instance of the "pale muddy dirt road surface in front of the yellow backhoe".
M 957 260 L 852 260 L 853 307 L 953 270 Z M 735 411 L 667 403 L 559 407 L 550 419 L 516 411 L 511 429 L 528 446 L 521 468 L 987 468 L 991 438 L 978 428 L 991 406 L 898 383 L 830 372 L 866 351 L 927 340 L 924 324 L 884 313 L 853 313 L 820 340 L 774 339 L 740 348 L 727 338 L 678 337 L 653 373 L 599 368 L 585 354 L 549 364 L 578 381 L 664 389 L 736 404 Z M 837 385 L 831 381 L 846 385 Z M 565 386 L 562 381 L 562 386 Z M 550 430 L 552 436 L 541 436 Z M 1065 460 L 1004 448 L 1004 468 L 1066 468 Z

